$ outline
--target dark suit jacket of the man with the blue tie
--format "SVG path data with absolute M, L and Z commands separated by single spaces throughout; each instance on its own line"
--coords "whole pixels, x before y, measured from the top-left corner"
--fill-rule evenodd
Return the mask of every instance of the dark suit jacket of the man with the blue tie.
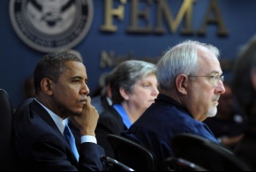
M 13 118 L 14 148 L 23 170 L 102 170 L 101 146 L 83 143 L 76 161 L 64 135 L 37 101 L 19 106 Z

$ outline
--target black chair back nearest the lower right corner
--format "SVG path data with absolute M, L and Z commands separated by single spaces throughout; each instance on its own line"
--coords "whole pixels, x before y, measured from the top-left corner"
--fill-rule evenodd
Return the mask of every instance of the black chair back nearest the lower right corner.
M 209 171 L 251 170 L 228 148 L 217 145 L 207 138 L 179 133 L 172 138 L 174 157 L 191 161 Z

